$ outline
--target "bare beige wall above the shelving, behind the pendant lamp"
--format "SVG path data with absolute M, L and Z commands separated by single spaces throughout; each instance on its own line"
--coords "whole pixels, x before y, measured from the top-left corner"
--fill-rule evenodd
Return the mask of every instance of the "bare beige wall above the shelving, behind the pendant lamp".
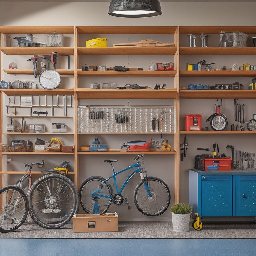
M 161 1 L 160 1 L 161 2 Z M 246 26 L 255 25 L 256 2 L 161 2 L 163 14 L 120 18 L 107 14 L 109 2 L 1 2 L 0 25 L 8 26 Z

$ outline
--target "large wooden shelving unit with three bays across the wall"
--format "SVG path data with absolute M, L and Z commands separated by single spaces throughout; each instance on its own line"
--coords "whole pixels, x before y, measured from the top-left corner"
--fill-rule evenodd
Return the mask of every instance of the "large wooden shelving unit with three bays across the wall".
M 183 135 L 193 135 L 193 136 L 203 136 L 206 138 L 208 135 L 212 136 L 231 136 L 235 134 L 236 136 L 243 136 L 252 134 L 254 135 L 256 132 L 250 131 L 184 131 L 184 129 L 180 129 L 180 100 L 192 100 L 192 99 L 254 99 L 256 98 L 256 90 L 187 90 L 184 85 L 181 85 L 182 79 L 190 79 L 197 80 L 201 78 L 209 78 L 209 79 L 216 79 L 216 78 L 252 78 L 256 77 L 256 71 L 232 71 L 232 70 L 225 70 L 225 71 L 186 71 L 180 70 L 181 66 L 184 66 L 185 63 L 180 63 L 181 59 L 182 62 L 185 62 L 185 59 L 193 59 L 195 56 L 198 56 L 198 59 L 201 59 L 202 56 L 242 56 L 242 55 L 256 55 L 256 48 L 254 47 L 183 47 L 180 42 L 180 37 L 184 37 L 187 34 L 196 34 L 200 35 L 201 33 L 209 34 L 212 36 L 218 36 L 221 31 L 241 31 L 247 34 L 256 34 L 256 27 L 254 26 L 64 26 L 64 27 L 20 27 L 20 26 L 0 26 L 0 33 L 1 33 L 1 47 L 0 50 L 2 54 L 5 55 L 45 55 L 50 54 L 52 52 L 58 52 L 60 55 L 72 55 L 73 58 L 73 67 L 71 69 L 57 69 L 61 76 L 67 76 L 74 79 L 74 88 L 62 88 L 62 89 L 54 89 L 54 90 L 44 90 L 44 89 L 0 89 L 1 96 L 0 101 L 2 102 L 4 99 L 4 94 L 6 95 L 72 95 L 74 96 L 73 102 L 73 126 L 72 130 L 74 132 L 68 132 L 66 134 L 56 134 L 60 137 L 65 138 L 65 136 L 73 136 L 73 142 L 75 145 L 75 149 L 73 153 L 45 153 L 45 152 L 24 152 L 24 153 L 7 153 L 7 152 L 0 152 L 0 169 L 3 169 L 3 158 L 6 155 L 22 155 L 26 158 L 29 155 L 46 155 L 47 157 L 54 158 L 54 155 L 67 155 L 71 157 L 74 162 L 74 171 L 71 172 L 74 182 L 77 187 L 81 183 L 79 173 L 82 169 L 80 165 L 81 159 L 83 157 L 90 157 L 90 156 L 104 156 L 104 155 L 134 155 L 138 153 L 145 153 L 149 154 L 150 156 L 154 157 L 154 155 L 166 157 L 166 161 L 170 161 L 170 156 L 172 159 L 170 165 L 174 166 L 174 175 L 172 179 L 174 180 L 174 188 L 172 193 L 174 194 L 174 203 L 179 202 L 179 195 L 180 195 L 180 143 L 182 143 L 181 136 Z M 49 33 L 61 33 L 70 35 L 73 39 L 73 45 L 64 45 L 64 47 L 9 47 L 5 45 L 5 36 L 9 34 L 49 34 Z M 84 41 L 86 38 L 93 38 L 99 36 L 107 36 L 112 39 L 115 36 L 125 36 L 125 35 L 141 35 L 141 36 L 160 36 L 164 35 L 166 38 L 170 39 L 171 41 L 168 43 L 174 43 L 174 47 L 104 47 L 104 48 L 87 48 L 85 47 Z M 83 44 L 81 43 L 83 41 Z M 137 56 L 141 56 L 141 58 L 147 58 L 147 56 L 154 57 L 154 56 L 161 56 L 161 58 L 167 56 L 168 58 L 173 58 L 174 62 L 174 70 L 173 71 L 148 71 L 147 69 L 143 70 L 132 70 L 126 72 L 119 72 L 113 70 L 107 71 L 82 71 L 82 65 L 84 57 L 91 57 L 95 56 L 97 58 L 104 58 L 106 59 L 107 56 L 110 56 L 111 59 L 122 57 L 128 57 L 130 59 L 136 58 Z M 3 62 L 5 59 L 3 58 Z M 4 65 L 5 64 L 5 65 Z M 6 63 L 2 63 L 2 76 L 8 75 L 18 78 L 20 75 L 26 76 L 33 76 L 33 69 L 3 69 L 6 66 Z M 153 90 L 153 89 L 143 89 L 143 90 L 110 90 L 110 89 L 90 89 L 88 84 L 83 84 L 81 81 L 83 79 L 100 79 L 100 78 L 115 78 L 115 79 L 131 79 L 131 78 L 145 78 L 145 79 L 155 79 L 155 78 L 165 78 L 166 81 L 172 81 L 173 86 L 166 86 L 166 89 L 161 90 Z M 175 133 L 169 133 L 168 136 L 171 136 L 173 139 L 173 147 L 172 151 L 148 151 L 148 152 L 125 152 L 125 151 L 107 151 L 107 152 L 81 152 L 80 151 L 80 140 L 86 141 L 87 138 L 91 138 L 94 134 L 88 133 L 78 133 L 77 132 L 77 125 L 78 125 L 78 117 L 77 117 L 77 108 L 79 106 L 80 100 L 111 100 L 111 102 L 120 102 L 120 100 L 127 100 L 131 99 L 133 101 L 136 100 L 150 100 L 153 102 L 161 102 L 161 100 L 170 100 L 174 102 L 174 107 L 176 108 L 176 131 Z M 187 108 L 189 110 L 189 107 Z M 4 112 L 5 109 L 3 105 L 0 105 L 0 115 L 1 120 L 5 117 Z M 20 116 L 18 116 L 20 118 Z M 27 117 L 26 117 L 27 118 Z M 35 117 L 33 117 L 35 118 Z M 57 117 L 49 117 L 52 118 L 52 121 L 55 122 L 58 118 Z M 38 120 L 38 119 L 37 119 Z M 40 120 L 40 119 L 39 119 Z M 66 119 L 65 119 L 66 120 Z M 69 120 L 69 119 L 68 119 Z M 3 144 L 3 137 L 9 136 L 13 138 L 13 136 L 21 136 L 21 135 L 29 135 L 33 137 L 33 134 L 28 133 L 7 133 L 3 130 L 5 123 L 2 123 L 0 126 L 0 144 Z M 55 134 L 50 132 L 44 133 L 44 135 L 52 135 L 53 137 Z M 95 132 L 97 135 L 97 133 Z M 151 135 L 151 133 L 144 133 L 144 135 Z M 108 133 L 103 133 L 105 138 L 110 136 Z M 118 133 L 117 133 L 118 135 Z M 121 134 L 119 134 L 120 136 Z M 137 136 L 139 138 L 140 135 L 138 134 L 131 134 L 133 136 Z M 153 133 L 155 135 L 155 133 Z M 166 134 L 165 134 L 166 135 Z M 41 136 L 41 135 L 40 135 Z M 125 134 L 124 134 L 125 136 Z M 83 170 L 86 172 L 86 170 Z M 168 170 L 165 170 L 168 172 Z M 22 173 L 22 172 L 19 172 Z M 2 184 L 2 176 L 6 174 L 17 174 L 15 171 L 2 171 L 0 172 L 0 184 Z

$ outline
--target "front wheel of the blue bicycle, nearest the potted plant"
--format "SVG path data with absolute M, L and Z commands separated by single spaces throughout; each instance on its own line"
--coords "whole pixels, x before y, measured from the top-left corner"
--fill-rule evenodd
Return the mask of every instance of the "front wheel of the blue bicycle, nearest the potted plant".
M 148 187 L 151 196 L 146 190 Z M 134 203 L 137 209 L 147 216 L 163 214 L 170 204 L 170 191 L 166 183 L 156 177 L 143 179 L 135 188 Z

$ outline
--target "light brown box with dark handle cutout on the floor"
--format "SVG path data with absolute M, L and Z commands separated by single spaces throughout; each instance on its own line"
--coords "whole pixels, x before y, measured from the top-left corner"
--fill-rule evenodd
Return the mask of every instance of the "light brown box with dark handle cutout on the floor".
M 116 232 L 118 231 L 117 213 L 74 214 L 73 232 Z

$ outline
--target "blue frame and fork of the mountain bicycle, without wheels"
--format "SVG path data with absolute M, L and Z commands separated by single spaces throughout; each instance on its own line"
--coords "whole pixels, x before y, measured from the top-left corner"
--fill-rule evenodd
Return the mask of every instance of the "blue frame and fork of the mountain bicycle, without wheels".
M 119 172 L 117 172 L 117 173 L 116 173 L 115 170 L 114 170 L 114 166 L 113 166 L 112 162 L 111 162 L 110 164 L 111 164 L 111 166 L 112 166 L 113 175 L 111 175 L 109 178 L 105 179 L 102 183 L 104 184 L 104 183 L 106 183 L 109 179 L 114 178 L 114 183 L 115 183 L 116 191 L 117 191 L 118 194 L 121 194 L 121 193 L 122 193 L 122 191 L 123 191 L 123 189 L 125 188 L 125 186 L 128 184 L 128 182 L 130 181 L 130 179 L 131 179 L 136 173 L 139 173 L 139 174 L 140 174 L 141 180 L 144 179 L 144 176 L 143 176 L 143 173 L 142 173 L 142 171 L 141 171 L 140 163 L 139 163 L 138 159 L 137 159 L 137 163 L 136 163 L 136 164 L 130 165 L 130 166 L 126 167 L 125 169 L 123 169 L 123 170 L 121 170 L 121 171 L 119 171 Z M 125 171 L 127 171 L 127 170 L 129 170 L 129 169 L 132 169 L 132 168 L 135 168 L 135 167 L 138 167 L 138 169 L 134 170 L 134 171 L 128 176 L 128 178 L 125 180 L 124 184 L 122 185 L 121 189 L 119 190 L 119 189 L 118 189 L 118 185 L 117 185 L 117 181 L 116 181 L 116 176 L 117 176 L 119 173 L 125 172 Z M 148 188 L 147 184 L 144 183 L 144 185 L 145 185 L 146 191 L 147 191 L 147 193 L 148 193 L 148 196 L 151 197 L 152 195 L 151 195 L 151 193 L 150 193 L 150 191 L 149 191 L 149 188 Z M 102 194 L 100 194 L 100 189 L 95 190 L 95 191 L 93 191 L 93 192 L 91 193 L 91 198 L 95 198 L 95 197 L 105 197 L 105 198 L 109 198 L 109 199 L 112 199 L 112 198 L 113 198 L 113 196 L 107 196 L 107 195 L 102 195 Z

